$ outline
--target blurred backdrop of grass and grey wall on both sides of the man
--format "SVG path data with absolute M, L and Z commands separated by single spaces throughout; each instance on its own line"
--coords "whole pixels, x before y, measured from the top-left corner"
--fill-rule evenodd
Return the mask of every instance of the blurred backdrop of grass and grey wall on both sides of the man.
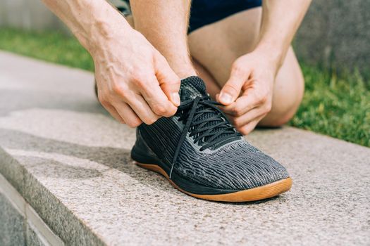
M 293 41 L 306 91 L 292 126 L 370 146 L 369 10 L 367 0 L 312 2 Z M 90 55 L 39 0 L 0 1 L 0 50 L 94 70 Z

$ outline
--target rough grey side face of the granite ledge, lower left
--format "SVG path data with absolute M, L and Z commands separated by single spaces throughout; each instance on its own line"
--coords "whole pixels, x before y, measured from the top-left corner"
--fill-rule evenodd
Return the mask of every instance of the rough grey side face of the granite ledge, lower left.
M 16 169 L 16 172 L 14 170 Z M 16 206 L 20 212 L 27 212 L 26 207 L 32 209 L 37 217 L 44 223 L 49 230 L 61 239 L 61 242 L 66 245 L 106 245 L 101 240 L 99 235 L 94 233 L 84 221 L 81 221 L 73 212 L 68 209 L 63 203 L 50 192 L 50 190 L 39 183 L 35 177 L 21 164 L 15 157 L 9 154 L 0 146 L 0 175 L 8 186 L 13 188 L 21 198 L 20 208 Z M 1 185 L 1 182 L 0 182 Z M 30 195 L 30 188 L 37 191 L 36 198 Z M 25 189 L 25 188 L 28 188 Z M 8 197 L 6 197 L 8 198 Z M 9 198 L 8 198 L 9 199 Z M 36 200 L 35 200 L 36 199 Z M 22 207 L 23 202 L 27 204 Z M 56 209 L 53 216 L 45 214 L 44 207 L 47 202 L 51 203 L 51 207 Z M 41 206 L 41 207 L 40 207 Z M 30 212 L 29 212 L 30 213 Z M 32 215 L 31 215 L 32 216 Z M 28 219 L 28 218 L 27 218 Z M 62 224 L 54 224 L 53 221 L 63 221 Z

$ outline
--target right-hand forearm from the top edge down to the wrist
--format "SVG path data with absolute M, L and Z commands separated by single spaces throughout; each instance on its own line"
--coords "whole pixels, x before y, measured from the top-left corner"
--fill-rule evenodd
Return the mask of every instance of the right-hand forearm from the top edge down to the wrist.
M 311 0 L 264 0 L 256 51 L 269 53 L 277 68 L 282 65 Z

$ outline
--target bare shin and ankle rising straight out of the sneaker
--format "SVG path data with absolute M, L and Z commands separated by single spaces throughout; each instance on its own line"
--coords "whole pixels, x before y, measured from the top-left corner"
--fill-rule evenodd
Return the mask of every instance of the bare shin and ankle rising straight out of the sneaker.
M 187 47 L 190 1 L 131 0 L 135 30 L 166 57 L 181 78 L 196 75 Z

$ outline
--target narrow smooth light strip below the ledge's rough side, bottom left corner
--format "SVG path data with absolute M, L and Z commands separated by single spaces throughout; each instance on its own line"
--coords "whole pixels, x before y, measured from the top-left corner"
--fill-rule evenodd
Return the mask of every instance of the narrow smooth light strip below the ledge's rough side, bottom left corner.
M 18 193 L 11 183 L 9 183 L 3 175 L 0 174 L 0 190 L 5 197 L 11 202 L 20 214 L 22 214 L 27 223 L 32 226 L 32 229 L 38 234 L 44 245 L 64 245 L 64 242 L 59 238 L 47 224 L 39 217 L 35 209 L 33 209 Z

